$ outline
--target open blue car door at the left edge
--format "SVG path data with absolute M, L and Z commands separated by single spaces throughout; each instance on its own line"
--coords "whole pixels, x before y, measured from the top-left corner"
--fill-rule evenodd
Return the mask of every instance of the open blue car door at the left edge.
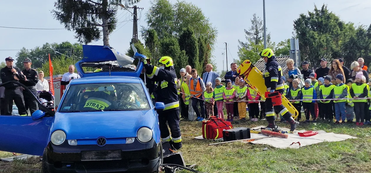
M 42 156 L 49 142 L 53 117 L 0 115 L 0 151 Z

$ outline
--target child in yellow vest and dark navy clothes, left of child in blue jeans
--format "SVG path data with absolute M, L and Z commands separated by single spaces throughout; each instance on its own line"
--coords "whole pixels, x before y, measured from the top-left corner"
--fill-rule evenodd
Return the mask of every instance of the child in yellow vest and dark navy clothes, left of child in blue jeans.
M 324 80 L 324 84 L 320 87 L 320 92 L 319 92 L 319 98 L 320 99 L 332 99 L 334 97 L 334 87 L 335 85 L 333 85 L 330 81 L 331 81 L 332 77 L 327 75 L 325 76 L 325 80 Z M 324 100 L 321 100 L 321 103 L 322 104 L 322 110 L 325 114 L 325 119 L 328 121 L 328 122 L 332 122 L 333 119 L 334 119 L 334 112 L 332 110 L 332 100 L 327 100 L 327 101 L 324 101 Z

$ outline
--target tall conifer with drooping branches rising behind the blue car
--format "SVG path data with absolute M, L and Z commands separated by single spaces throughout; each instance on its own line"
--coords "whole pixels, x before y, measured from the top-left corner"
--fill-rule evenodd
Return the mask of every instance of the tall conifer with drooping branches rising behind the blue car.
M 119 3 L 126 6 L 140 0 L 56 0 L 52 14 L 68 30 L 75 31 L 75 38 L 85 44 L 101 39 L 109 46 L 109 34 L 116 27 Z M 102 27 L 102 30 L 99 30 Z

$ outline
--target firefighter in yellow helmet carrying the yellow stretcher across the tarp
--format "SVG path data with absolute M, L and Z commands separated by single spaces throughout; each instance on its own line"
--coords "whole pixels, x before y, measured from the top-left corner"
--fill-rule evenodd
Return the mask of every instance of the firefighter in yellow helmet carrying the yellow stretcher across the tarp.
M 282 95 L 283 92 L 285 92 L 285 87 L 283 86 L 282 80 L 282 69 L 277 63 L 275 54 L 273 53 L 272 49 L 264 49 L 260 53 L 260 57 L 262 57 L 265 61 L 264 81 L 267 91 L 270 93 L 278 91 Z M 272 99 L 266 98 L 265 113 L 268 121 L 267 127 L 275 129 L 275 111 L 279 112 L 283 118 L 290 123 L 291 132 L 293 132 L 299 125 L 299 122 L 295 121 L 291 117 L 292 115 L 286 107 L 284 107 L 282 104 L 273 107 Z

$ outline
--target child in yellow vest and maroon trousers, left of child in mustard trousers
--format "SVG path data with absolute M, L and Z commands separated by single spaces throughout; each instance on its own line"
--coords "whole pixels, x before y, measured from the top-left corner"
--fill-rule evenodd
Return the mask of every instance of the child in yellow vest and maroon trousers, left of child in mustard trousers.
M 233 99 L 236 95 L 235 89 L 232 87 L 231 80 L 226 80 L 227 87 L 223 90 L 223 99 L 226 103 L 227 121 L 233 122 Z

